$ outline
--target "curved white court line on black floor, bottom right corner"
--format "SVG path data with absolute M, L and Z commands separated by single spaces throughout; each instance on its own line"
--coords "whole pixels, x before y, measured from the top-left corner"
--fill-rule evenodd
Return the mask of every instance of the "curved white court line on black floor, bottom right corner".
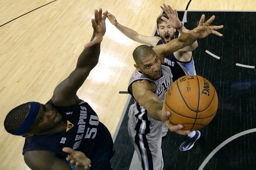
M 198 170 L 202 170 L 205 165 L 209 162 L 209 160 L 213 157 L 214 154 L 216 154 L 216 152 L 218 152 L 218 150 L 220 150 L 223 146 L 225 146 L 226 144 L 228 144 L 229 142 L 233 141 L 234 139 L 252 133 L 252 132 L 256 132 L 256 128 L 253 129 L 249 129 L 243 132 L 240 132 L 238 134 L 235 134 L 233 136 L 231 136 L 230 138 L 226 139 L 224 142 L 222 142 L 221 144 L 219 144 L 219 146 L 217 146 L 206 158 L 205 160 L 202 162 L 202 164 L 200 165 L 200 167 L 198 168 Z

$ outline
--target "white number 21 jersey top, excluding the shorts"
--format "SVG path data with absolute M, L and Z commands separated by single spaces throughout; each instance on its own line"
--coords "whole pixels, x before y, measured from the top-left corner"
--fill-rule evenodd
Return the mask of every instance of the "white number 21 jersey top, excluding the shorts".
M 131 76 L 129 84 L 128 84 L 129 94 L 131 94 L 131 96 L 133 97 L 132 89 L 131 89 L 132 83 L 134 83 L 135 81 L 138 81 L 138 80 L 148 80 L 149 82 L 151 82 L 155 85 L 156 90 L 155 90 L 154 93 L 157 95 L 157 97 L 160 99 L 160 101 L 163 101 L 164 93 L 167 91 L 168 87 L 172 83 L 172 75 L 171 75 L 171 72 L 170 72 L 170 68 L 168 66 L 165 66 L 165 65 L 161 65 L 161 72 L 162 72 L 162 76 L 157 80 L 153 80 L 153 79 L 150 79 L 150 78 L 146 77 L 145 75 L 143 75 L 138 70 L 135 70 L 132 73 L 132 76 Z M 146 120 L 146 121 L 156 121 L 156 120 L 152 119 L 147 114 L 147 111 L 145 110 L 145 108 L 140 106 L 139 103 L 136 100 L 134 100 L 134 101 L 135 101 L 134 107 L 136 107 L 136 108 L 134 108 L 134 110 L 135 110 L 136 113 L 130 113 L 129 114 L 130 119 L 133 119 L 133 121 L 132 121 L 133 124 L 137 123 L 137 121 L 138 121 L 137 119 Z M 161 123 L 160 121 L 157 121 L 157 122 Z

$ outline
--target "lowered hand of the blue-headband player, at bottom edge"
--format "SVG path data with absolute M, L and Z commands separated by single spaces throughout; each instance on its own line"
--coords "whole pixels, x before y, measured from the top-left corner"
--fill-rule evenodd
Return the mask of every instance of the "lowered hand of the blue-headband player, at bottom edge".
M 79 169 L 89 170 L 90 159 L 88 159 L 82 152 L 74 151 L 68 147 L 64 147 L 62 151 L 68 154 L 66 161 L 70 162 L 70 164 L 79 167 Z

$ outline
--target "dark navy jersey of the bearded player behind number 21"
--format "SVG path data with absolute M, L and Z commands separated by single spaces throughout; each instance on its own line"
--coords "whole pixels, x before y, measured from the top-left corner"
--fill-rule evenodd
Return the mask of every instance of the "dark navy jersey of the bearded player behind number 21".
M 156 45 L 159 45 L 159 44 L 163 44 L 161 39 L 157 42 Z M 173 81 L 185 75 L 196 75 L 193 57 L 191 57 L 190 61 L 183 62 L 183 61 L 178 61 L 173 55 L 173 53 L 171 53 L 164 58 L 164 63 L 170 67 L 171 72 L 173 74 L 173 77 L 172 77 Z

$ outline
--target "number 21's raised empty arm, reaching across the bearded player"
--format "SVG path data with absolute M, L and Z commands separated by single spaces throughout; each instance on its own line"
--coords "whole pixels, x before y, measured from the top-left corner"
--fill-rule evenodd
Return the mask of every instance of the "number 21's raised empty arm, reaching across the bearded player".
M 153 47 L 156 55 L 163 61 L 164 57 L 174 51 L 177 51 L 187 45 L 192 44 L 198 38 L 204 38 L 209 34 L 215 34 L 217 36 L 223 36 L 221 33 L 216 31 L 217 29 L 223 28 L 223 25 L 210 25 L 210 23 L 214 20 L 215 16 L 211 16 L 205 23 L 204 23 L 205 15 L 202 14 L 199 24 L 192 30 L 183 29 L 182 34 L 166 44 L 161 44 Z

